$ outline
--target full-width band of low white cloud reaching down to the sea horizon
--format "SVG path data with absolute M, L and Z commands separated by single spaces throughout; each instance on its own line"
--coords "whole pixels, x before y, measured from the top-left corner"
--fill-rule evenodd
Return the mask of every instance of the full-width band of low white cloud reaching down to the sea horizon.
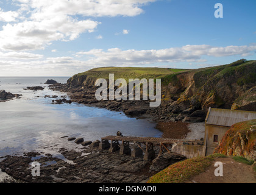
M 207 67 L 215 65 L 206 63 L 205 56 L 244 56 L 253 54 L 255 51 L 256 45 L 216 47 L 202 44 L 158 50 L 91 49 L 77 52 L 73 54 L 74 57 L 46 59 L 42 59 L 43 55 L 28 52 L 0 52 L 0 76 L 72 76 L 99 66 L 154 65 L 161 67 L 167 64 L 171 67 L 175 63 L 183 64 L 183 62 L 185 65 L 187 63 Z M 79 60 L 76 55 L 79 56 Z

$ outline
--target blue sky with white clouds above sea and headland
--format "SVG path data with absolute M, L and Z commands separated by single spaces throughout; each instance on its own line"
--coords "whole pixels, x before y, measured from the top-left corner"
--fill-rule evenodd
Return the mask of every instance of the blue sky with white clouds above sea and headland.
M 0 0 L 0 76 L 256 60 L 255 9 L 255 0 Z

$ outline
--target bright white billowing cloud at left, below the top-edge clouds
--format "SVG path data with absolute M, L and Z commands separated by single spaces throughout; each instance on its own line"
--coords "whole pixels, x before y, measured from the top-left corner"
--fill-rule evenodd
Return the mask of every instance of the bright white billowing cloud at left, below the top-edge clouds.
M 52 41 L 74 40 L 82 32 L 93 32 L 97 26 L 90 19 L 78 21 L 69 16 L 6 24 L 0 31 L 0 47 L 9 51 L 43 49 Z

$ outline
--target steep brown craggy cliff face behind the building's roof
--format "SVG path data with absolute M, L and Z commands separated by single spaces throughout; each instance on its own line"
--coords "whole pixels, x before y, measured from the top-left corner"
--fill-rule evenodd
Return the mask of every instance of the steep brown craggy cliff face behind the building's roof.
M 256 111 L 256 62 L 232 63 L 216 68 L 180 73 L 168 84 L 176 104 L 188 103 L 205 112 L 209 107 Z

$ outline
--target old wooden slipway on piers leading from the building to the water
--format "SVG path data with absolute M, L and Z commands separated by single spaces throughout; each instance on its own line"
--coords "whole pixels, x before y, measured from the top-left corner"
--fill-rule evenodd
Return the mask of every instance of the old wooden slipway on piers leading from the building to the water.
M 110 143 L 109 143 L 110 141 Z M 121 144 L 119 143 L 121 141 Z M 133 143 L 133 147 L 130 149 L 130 143 Z M 172 147 L 176 144 L 188 144 L 188 145 L 203 145 L 204 141 L 199 140 L 174 140 L 169 138 L 152 138 L 152 137 L 122 137 L 122 136 L 107 136 L 101 138 L 100 149 L 109 148 L 110 152 L 119 150 L 120 154 L 131 154 L 132 157 L 143 155 L 144 160 L 151 160 L 155 157 L 153 147 L 159 146 L 160 150 L 158 156 L 162 155 L 163 151 L 171 152 L 168 147 Z M 144 147 L 142 146 L 144 144 Z

